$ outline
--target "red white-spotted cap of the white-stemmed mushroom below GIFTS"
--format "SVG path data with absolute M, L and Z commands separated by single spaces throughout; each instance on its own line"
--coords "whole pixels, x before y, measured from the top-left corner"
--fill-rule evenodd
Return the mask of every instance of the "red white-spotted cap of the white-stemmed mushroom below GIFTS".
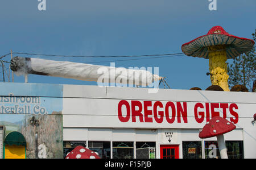
M 230 132 L 236 128 L 232 122 L 221 118 L 221 117 L 213 117 L 210 119 L 209 123 L 203 127 L 203 130 L 199 133 L 199 138 L 210 138 L 213 136 L 218 136 L 225 134 L 226 132 Z

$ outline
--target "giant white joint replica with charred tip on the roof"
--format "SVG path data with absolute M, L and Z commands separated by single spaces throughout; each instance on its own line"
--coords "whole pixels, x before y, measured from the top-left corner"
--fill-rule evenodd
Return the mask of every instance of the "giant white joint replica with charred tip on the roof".
M 100 83 L 132 84 L 136 86 L 147 86 L 162 78 L 146 71 L 146 69 L 115 68 L 24 57 L 14 57 L 11 60 L 11 70 L 18 75 L 39 74 Z

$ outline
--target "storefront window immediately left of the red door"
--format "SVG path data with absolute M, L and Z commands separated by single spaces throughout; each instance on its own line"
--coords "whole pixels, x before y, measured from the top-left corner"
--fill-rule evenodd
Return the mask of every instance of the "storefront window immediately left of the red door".
M 155 142 L 136 142 L 137 159 L 155 159 Z

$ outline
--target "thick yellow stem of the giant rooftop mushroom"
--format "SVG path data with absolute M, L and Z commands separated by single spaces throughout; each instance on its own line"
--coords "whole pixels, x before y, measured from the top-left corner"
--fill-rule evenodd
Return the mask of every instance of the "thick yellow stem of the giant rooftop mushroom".
M 212 81 L 212 85 L 218 85 L 224 91 L 230 91 L 225 45 L 209 46 L 208 49 L 210 80 Z

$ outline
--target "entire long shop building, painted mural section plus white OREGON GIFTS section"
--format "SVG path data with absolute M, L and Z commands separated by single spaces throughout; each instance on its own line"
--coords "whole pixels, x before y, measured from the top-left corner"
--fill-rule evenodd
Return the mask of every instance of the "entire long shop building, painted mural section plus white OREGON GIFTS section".
M 229 158 L 256 158 L 256 93 L 148 90 L 0 83 L 0 157 L 63 158 L 82 145 L 104 159 L 220 158 L 216 137 L 199 138 L 220 116 L 236 125 Z

